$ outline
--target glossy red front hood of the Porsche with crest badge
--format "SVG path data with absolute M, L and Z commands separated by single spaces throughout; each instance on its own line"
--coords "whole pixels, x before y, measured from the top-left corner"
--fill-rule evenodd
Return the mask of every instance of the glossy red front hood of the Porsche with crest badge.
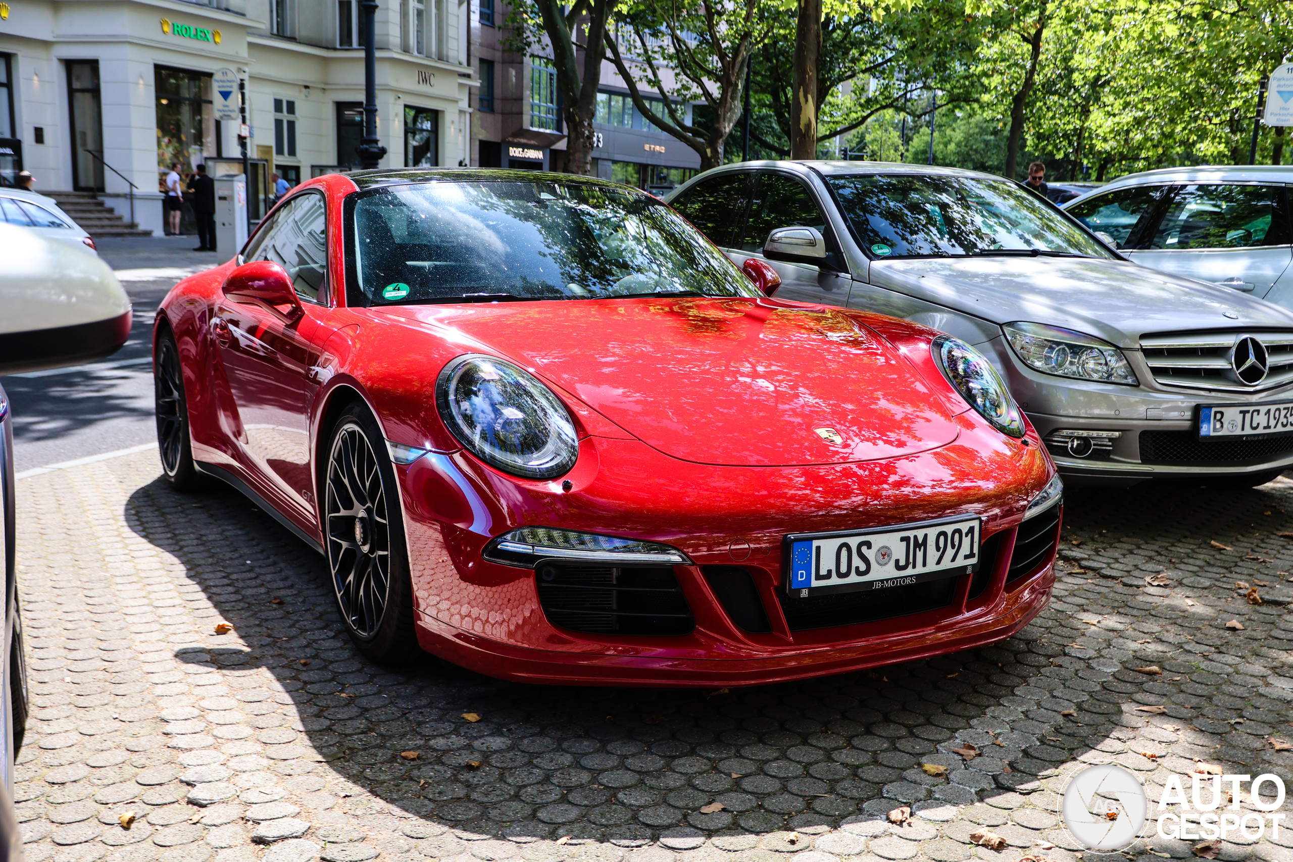
M 688 461 L 861 461 L 957 437 L 919 373 L 837 310 L 670 297 L 388 313 L 455 331 L 464 352 L 478 341 Z

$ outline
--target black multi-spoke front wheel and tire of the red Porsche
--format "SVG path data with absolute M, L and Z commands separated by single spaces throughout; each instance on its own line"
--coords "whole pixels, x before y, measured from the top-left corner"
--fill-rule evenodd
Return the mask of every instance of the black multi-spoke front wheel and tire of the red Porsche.
M 322 479 L 328 574 L 350 640 L 374 662 L 420 655 L 400 486 L 381 430 L 363 405 L 337 417 Z

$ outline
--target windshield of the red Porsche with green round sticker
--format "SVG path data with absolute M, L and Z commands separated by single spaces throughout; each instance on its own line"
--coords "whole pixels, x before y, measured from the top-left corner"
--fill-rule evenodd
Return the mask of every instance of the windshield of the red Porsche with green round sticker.
M 582 182 L 427 182 L 354 204 L 354 273 L 370 305 L 760 296 L 659 200 Z

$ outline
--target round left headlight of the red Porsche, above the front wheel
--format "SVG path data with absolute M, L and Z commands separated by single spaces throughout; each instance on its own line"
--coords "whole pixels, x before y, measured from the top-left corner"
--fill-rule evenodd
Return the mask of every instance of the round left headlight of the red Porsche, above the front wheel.
M 579 455 L 565 405 L 511 362 L 458 357 L 440 372 L 436 406 L 463 446 L 504 473 L 551 479 Z

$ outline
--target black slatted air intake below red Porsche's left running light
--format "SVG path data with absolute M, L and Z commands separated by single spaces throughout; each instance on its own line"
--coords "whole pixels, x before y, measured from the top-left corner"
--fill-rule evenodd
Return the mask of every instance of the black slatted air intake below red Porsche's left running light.
M 592 635 L 687 635 L 692 609 L 668 566 L 540 565 L 539 604 L 548 622 Z

